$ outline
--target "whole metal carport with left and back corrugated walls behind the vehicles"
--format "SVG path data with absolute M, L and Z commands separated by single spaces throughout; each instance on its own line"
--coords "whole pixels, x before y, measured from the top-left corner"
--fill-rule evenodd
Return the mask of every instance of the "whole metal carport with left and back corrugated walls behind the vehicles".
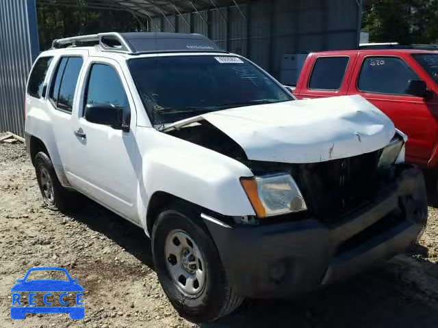
M 149 31 L 201 33 L 287 84 L 294 84 L 309 51 L 357 46 L 362 6 L 362 0 L 2 0 L 0 131 L 18 135 L 24 133 L 27 74 L 39 53 L 37 1 L 126 10 L 146 18 Z

